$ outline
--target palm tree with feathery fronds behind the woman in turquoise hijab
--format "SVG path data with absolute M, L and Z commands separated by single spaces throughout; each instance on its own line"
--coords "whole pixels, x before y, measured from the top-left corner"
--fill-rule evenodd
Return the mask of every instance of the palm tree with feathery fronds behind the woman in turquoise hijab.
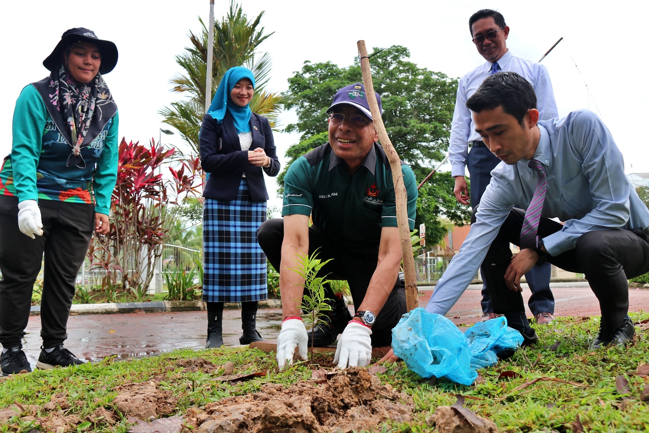
M 250 103 L 251 110 L 268 118 L 271 127 L 278 127 L 277 116 L 288 98 L 283 94 L 265 90 L 272 68 L 268 53 L 259 53 L 258 46 L 273 33 L 264 34 L 260 27 L 264 12 L 250 21 L 238 3 L 230 3 L 228 14 L 221 21 L 214 21 L 214 64 L 212 71 L 212 95 L 221 77 L 233 66 L 246 66 L 255 77 L 255 92 Z M 176 62 L 184 70 L 171 79 L 173 92 L 186 94 L 188 98 L 172 102 L 171 107 L 160 110 L 164 122 L 178 129 L 182 138 L 199 153 L 199 131 L 205 114 L 205 78 L 207 66 L 208 31 L 203 21 L 201 33 L 190 31 L 191 46 L 176 56 Z

